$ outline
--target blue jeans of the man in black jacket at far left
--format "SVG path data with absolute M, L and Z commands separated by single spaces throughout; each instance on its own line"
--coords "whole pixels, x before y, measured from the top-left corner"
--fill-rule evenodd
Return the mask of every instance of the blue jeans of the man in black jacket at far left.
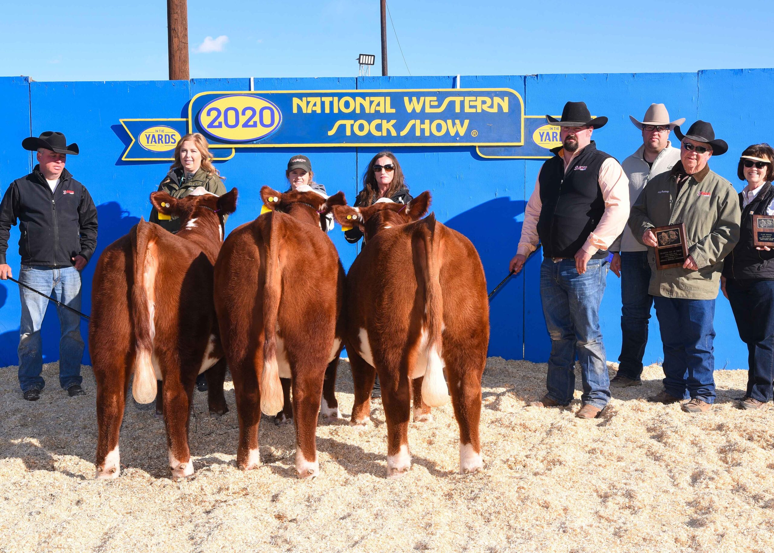
M 75 267 L 22 265 L 19 282 L 80 311 L 80 273 Z M 52 294 L 53 292 L 53 294 Z M 31 388 L 43 390 L 43 341 L 40 326 L 49 301 L 32 290 L 19 287 L 22 321 L 19 330 L 19 384 L 22 392 Z M 59 342 L 59 383 L 67 389 L 80 384 L 80 359 L 84 356 L 84 339 L 80 337 L 80 317 L 57 306 L 62 338 Z

